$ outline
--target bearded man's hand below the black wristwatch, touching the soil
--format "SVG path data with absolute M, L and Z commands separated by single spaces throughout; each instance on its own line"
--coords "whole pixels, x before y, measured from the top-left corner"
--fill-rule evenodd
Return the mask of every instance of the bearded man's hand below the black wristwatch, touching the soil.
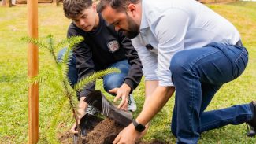
M 123 131 L 119 133 L 119 135 L 117 135 L 117 137 L 113 141 L 113 144 L 135 144 L 135 142 L 139 139 L 140 135 L 143 134 L 136 131 L 133 124 L 129 124 L 127 127 L 124 128 Z

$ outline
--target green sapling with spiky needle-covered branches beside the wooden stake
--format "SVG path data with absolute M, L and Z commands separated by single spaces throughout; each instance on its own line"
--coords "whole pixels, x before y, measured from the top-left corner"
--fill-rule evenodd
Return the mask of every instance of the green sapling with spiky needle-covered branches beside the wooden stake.
M 28 83 L 43 83 L 44 81 L 50 81 L 51 78 L 55 78 L 53 82 L 51 83 L 51 87 L 54 87 L 54 90 L 60 90 L 61 94 L 63 95 L 63 98 L 61 98 L 60 104 L 58 104 L 58 110 L 61 110 L 63 107 L 63 103 L 66 102 L 66 100 L 69 101 L 70 109 L 72 110 L 74 119 L 76 120 L 77 124 L 77 96 L 76 92 L 83 90 L 83 87 L 85 87 L 87 84 L 94 82 L 96 79 L 101 78 L 102 76 L 106 76 L 111 73 L 120 72 L 118 68 L 107 68 L 105 70 L 94 72 L 90 76 L 84 77 L 81 79 L 74 87 L 71 87 L 69 85 L 69 79 L 67 77 L 67 72 L 69 70 L 69 59 L 72 55 L 72 50 L 76 46 L 76 44 L 83 41 L 83 37 L 81 36 L 74 36 L 70 37 L 68 39 L 64 39 L 61 42 L 58 42 L 57 44 L 54 43 L 53 35 L 48 35 L 46 37 L 46 41 L 41 41 L 38 39 L 33 39 L 30 37 L 24 37 L 21 39 L 24 42 L 32 43 L 37 46 L 39 46 L 39 50 L 46 50 L 50 52 L 51 57 L 53 57 L 53 65 L 56 65 L 54 69 L 43 69 L 46 72 L 46 76 L 35 76 L 33 78 L 28 79 Z M 61 58 L 61 61 L 57 58 L 57 50 L 60 50 L 61 48 L 66 47 L 66 52 Z M 39 72 L 40 73 L 40 72 Z M 56 81 L 56 77 L 58 77 L 58 81 Z M 58 113 L 56 113 L 58 115 Z M 56 139 L 56 128 L 57 125 L 57 119 L 58 116 L 52 121 L 50 124 L 50 130 L 51 134 L 48 135 L 51 142 L 58 142 Z M 54 132 L 53 132 L 54 131 Z

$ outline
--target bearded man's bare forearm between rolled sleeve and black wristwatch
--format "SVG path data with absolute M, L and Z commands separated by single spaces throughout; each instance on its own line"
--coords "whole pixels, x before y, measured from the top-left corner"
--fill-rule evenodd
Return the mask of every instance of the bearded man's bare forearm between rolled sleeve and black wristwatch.
M 168 102 L 169 98 L 175 91 L 174 87 L 160 87 L 158 86 L 150 98 L 147 100 L 147 105 L 144 106 L 143 111 L 136 118 L 139 124 L 147 124 L 150 120 L 161 110 L 161 108 Z

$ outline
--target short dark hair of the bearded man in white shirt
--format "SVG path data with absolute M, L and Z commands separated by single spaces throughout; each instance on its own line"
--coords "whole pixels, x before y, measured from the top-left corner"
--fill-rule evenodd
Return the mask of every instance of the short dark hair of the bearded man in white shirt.
M 106 6 L 110 6 L 112 9 L 116 9 L 117 12 L 125 12 L 127 6 L 130 3 L 137 4 L 140 0 L 101 0 L 98 3 L 98 12 L 102 12 Z

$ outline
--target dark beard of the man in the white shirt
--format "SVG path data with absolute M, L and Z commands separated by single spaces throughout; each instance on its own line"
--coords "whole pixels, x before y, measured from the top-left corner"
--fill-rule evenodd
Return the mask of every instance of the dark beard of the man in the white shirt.
M 126 35 L 129 39 L 135 38 L 137 35 L 139 35 L 139 25 L 132 20 L 131 17 L 128 17 L 128 30 L 121 30 L 124 31 L 124 35 Z

